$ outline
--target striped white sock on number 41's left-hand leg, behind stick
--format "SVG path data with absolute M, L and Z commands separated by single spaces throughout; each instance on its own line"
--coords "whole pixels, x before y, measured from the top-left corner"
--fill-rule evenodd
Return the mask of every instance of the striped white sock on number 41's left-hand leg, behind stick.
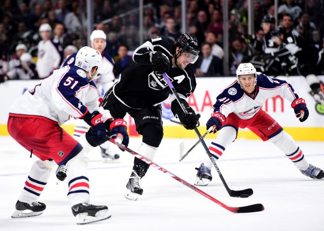
M 233 127 L 226 126 L 223 127 L 217 134 L 215 141 L 209 146 L 209 150 L 212 153 L 214 159 L 217 161 L 225 151 L 225 148 L 231 144 L 236 138 L 236 130 Z M 213 163 L 207 155 L 204 158 L 205 167 L 211 169 Z

